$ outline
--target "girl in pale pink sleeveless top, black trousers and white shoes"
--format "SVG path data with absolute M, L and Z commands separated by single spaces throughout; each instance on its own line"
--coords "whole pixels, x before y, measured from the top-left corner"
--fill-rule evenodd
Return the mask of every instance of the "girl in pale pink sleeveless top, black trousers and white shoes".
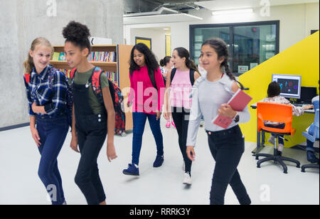
M 183 157 L 183 184 L 191 185 L 192 161 L 186 154 L 186 140 L 188 135 L 188 124 L 191 109 L 191 89 L 194 82 L 200 77 L 198 68 L 186 48 L 175 48 L 172 53 L 174 69 L 171 70 L 166 79 L 166 105 L 165 119 L 174 119 L 178 133 L 178 144 Z M 171 113 L 170 113 L 171 112 Z

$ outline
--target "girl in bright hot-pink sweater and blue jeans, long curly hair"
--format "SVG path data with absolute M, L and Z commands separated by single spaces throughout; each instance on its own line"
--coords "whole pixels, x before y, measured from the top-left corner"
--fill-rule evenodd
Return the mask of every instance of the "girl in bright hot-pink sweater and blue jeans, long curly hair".
M 133 139 L 132 164 L 124 169 L 125 175 L 139 176 L 139 156 L 146 119 L 149 120 L 152 134 L 156 140 L 156 160 L 154 167 L 164 162 L 164 143 L 160 128 L 161 109 L 164 97 L 164 78 L 154 54 L 144 43 L 132 48 L 130 60 L 131 89 L 127 106 L 132 106 Z

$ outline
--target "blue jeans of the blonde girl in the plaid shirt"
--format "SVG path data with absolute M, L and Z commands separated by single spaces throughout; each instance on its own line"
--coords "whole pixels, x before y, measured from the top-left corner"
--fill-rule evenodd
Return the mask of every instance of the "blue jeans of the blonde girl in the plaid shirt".
M 68 134 L 68 117 L 43 118 L 36 118 L 36 128 L 41 141 L 41 146 L 38 147 L 41 154 L 38 176 L 46 186 L 52 204 L 62 205 L 65 196 L 57 158 Z

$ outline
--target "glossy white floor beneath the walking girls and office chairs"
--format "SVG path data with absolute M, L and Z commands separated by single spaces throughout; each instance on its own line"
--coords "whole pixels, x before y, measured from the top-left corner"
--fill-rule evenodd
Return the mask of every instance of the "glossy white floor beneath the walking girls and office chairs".
M 164 127 L 164 119 L 162 119 Z M 142 153 L 140 156 L 140 176 L 124 176 L 122 169 L 131 161 L 132 134 L 115 137 L 114 144 L 118 158 L 107 161 L 106 146 L 102 148 L 98 164 L 104 183 L 107 203 L 112 205 L 207 205 L 214 161 L 208 149 L 208 141 L 203 128 L 198 133 L 196 161 L 193 163 L 193 185 L 182 184 L 182 156 L 178 149 L 176 130 L 163 128 L 164 165 L 152 167 L 156 155 L 154 138 L 146 123 Z M 67 137 L 58 157 L 63 188 L 68 204 L 86 204 L 84 196 L 74 183 L 80 155 L 69 147 Z M 255 144 L 247 142 L 246 151 L 238 167 L 242 181 L 254 205 L 274 204 L 315 204 L 319 205 L 319 170 L 310 169 L 302 173 L 294 165 L 288 165 L 288 174 L 273 163 L 262 164 L 257 169 L 251 151 Z M 263 151 L 272 153 L 272 146 Z M 284 156 L 298 159 L 307 164 L 305 151 L 284 149 Z M 48 205 L 46 189 L 38 178 L 40 155 L 33 143 L 29 127 L 0 132 L 0 205 L 40 204 Z M 233 191 L 228 188 L 225 204 L 237 205 Z

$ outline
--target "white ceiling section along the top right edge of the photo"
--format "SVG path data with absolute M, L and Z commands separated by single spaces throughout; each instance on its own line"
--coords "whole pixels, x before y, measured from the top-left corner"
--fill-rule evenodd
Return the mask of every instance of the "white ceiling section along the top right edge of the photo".
M 306 4 L 315 3 L 319 0 L 215 0 L 215 1 L 196 1 L 194 4 L 203 6 L 203 8 L 215 10 L 226 10 L 226 9 L 245 9 L 259 7 L 260 3 L 270 2 L 270 6 L 280 6 L 287 4 Z M 263 4 L 265 5 L 265 4 Z

